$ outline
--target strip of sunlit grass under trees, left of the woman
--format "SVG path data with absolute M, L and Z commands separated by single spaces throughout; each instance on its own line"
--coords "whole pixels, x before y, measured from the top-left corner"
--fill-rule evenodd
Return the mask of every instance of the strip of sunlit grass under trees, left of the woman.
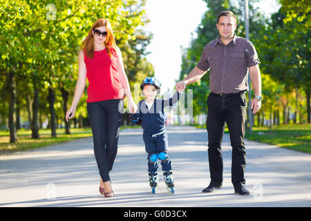
M 135 127 L 135 126 L 134 126 Z M 122 126 L 122 128 L 128 128 Z M 10 144 L 10 134 L 8 131 L 0 131 L 0 155 L 10 154 L 16 151 L 25 151 L 34 148 L 41 148 L 48 145 L 60 144 L 70 140 L 83 137 L 91 137 L 91 128 L 70 128 L 70 135 L 65 134 L 65 129 L 57 129 L 57 137 L 50 136 L 50 129 L 40 129 L 39 139 L 31 138 L 30 130 L 17 131 L 17 143 Z

